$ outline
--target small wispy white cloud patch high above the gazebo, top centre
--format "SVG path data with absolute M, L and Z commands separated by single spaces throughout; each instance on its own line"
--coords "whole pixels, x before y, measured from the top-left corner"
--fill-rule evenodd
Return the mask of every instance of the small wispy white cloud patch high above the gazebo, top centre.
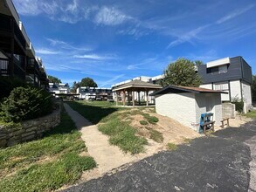
M 131 19 L 131 17 L 126 16 L 120 10 L 116 10 L 113 7 L 102 7 L 94 17 L 94 22 L 96 24 L 117 25 L 124 23 L 128 19 Z

